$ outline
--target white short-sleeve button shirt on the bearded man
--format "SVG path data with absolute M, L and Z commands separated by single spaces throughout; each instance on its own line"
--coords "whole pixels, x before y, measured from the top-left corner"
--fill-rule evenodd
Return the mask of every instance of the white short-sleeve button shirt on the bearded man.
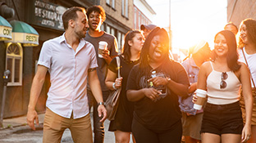
M 88 69 L 96 68 L 94 46 L 80 39 L 74 51 L 64 34 L 43 43 L 38 65 L 48 68 L 51 87 L 46 106 L 64 117 L 82 118 L 89 114 L 86 92 Z

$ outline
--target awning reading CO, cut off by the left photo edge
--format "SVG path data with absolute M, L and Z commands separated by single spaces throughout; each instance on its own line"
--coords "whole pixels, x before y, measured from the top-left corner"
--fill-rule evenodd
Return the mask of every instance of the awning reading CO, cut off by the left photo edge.
M 11 40 L 11 25 L 0 16 L 0 41 Z

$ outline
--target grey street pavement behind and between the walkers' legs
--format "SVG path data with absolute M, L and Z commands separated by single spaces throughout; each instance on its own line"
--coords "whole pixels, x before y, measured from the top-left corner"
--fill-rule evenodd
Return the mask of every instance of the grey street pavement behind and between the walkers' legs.
M 0 129 L 0 143 L 42 143 L 43 142 L 43 118 L 44 114 L 39 114 L 39 126 L 33 131 L 26 124 L 26 117 L 3 119 L 3 128 Z M 92 114 L 91 114 L 91 122 Z M 109 121 L 106 120 L 104 143 L 114 143 L 115 136 L 113 132 L 108 132 Z M 131 143 L 132 141 L 130 141 Z M 62 143 L 73 143 L 71 132 L 66 129 L 62 136 Z

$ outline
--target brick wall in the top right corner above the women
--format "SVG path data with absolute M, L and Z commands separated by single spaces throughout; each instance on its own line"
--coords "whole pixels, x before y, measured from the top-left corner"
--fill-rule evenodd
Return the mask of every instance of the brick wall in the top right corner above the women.
M 227 0 L 227 21 L 239 27 L 246 18 L 256 20 L 256 0 Z

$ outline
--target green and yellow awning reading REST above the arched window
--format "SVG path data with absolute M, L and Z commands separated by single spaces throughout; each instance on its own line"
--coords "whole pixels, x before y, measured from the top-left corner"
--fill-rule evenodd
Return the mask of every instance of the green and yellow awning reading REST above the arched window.
M 39 45 L 39 33 L 30 25 L 18 20 L 11 20 L 12 39 L 8 42 L 21 42 L 24 47 Z

